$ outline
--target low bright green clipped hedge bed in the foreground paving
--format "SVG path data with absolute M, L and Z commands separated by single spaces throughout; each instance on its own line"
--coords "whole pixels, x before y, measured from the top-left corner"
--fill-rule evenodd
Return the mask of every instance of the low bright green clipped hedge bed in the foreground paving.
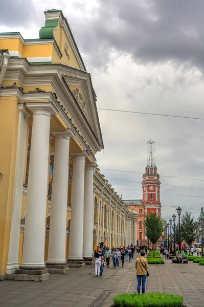
M 114 298 L 115 307 L 182 307 L 184 298 L 169 293 L 124 293 Z

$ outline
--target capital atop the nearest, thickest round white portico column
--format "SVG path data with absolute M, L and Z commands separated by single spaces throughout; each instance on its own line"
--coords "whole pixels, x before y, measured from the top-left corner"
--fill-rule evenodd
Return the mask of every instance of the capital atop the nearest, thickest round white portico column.
M 56 115 L 57 109 L 51 102 L 29 102 L 26 106 L 33 112 L 34 115 Z

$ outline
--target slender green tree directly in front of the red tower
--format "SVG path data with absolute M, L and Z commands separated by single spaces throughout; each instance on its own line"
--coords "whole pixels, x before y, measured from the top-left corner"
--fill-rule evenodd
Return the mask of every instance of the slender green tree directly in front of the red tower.
M 149 212 L 149 215 L 145 213 L 145 234 L 150 239 L 150 242 L 153 243 L 154 247 L 157 240 L 161 237 L 162 232 L 164 231 L 162 222 L 160 220 L 160 215 Z M 154 257 L 153 249 L 153 257 Z

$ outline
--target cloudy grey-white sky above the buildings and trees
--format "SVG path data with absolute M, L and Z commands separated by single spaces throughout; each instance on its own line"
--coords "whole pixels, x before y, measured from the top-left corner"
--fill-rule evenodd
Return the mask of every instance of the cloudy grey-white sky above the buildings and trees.
M 99 108 L 204 118 L 203 0 L 8 0 L 1 32 L 37 38 L 43 11 L 53 8 L 69 21 Z M 99 117 L 105 149 L 98 165 L 123 199 L 142 197 L 151 138 L 162 216 L 170 218 L 180 205 L 197 217 L 204 201 L 204 121 L 103 110 Z

